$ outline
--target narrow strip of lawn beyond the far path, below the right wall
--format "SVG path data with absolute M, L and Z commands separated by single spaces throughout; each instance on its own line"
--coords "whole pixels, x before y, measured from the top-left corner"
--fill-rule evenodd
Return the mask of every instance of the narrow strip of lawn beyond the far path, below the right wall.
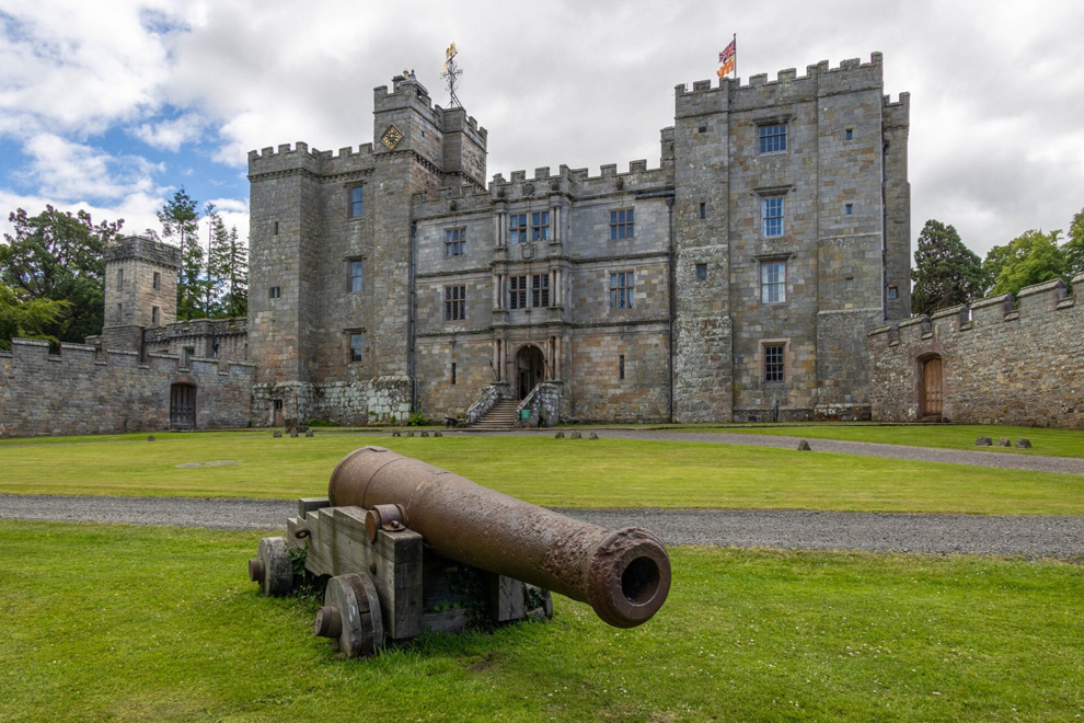
M 887 445 L 912 445 L 941 449 L 976 449 L 979 451 L 1011 452 L 1017 455 L 1045 455 L 1048 457 L 1084 457 L 1084 432 L 1079 429 L 1047 429 L 1039 427 L 983 426 L 980 424 L 946 424 L 913 426 L 874 426 L 838 424 L 797 426 L 756 426 L 705 429 L 690 432 L 728 432 L 735 434 L 766 434 L 807 439 L 844 439 L 846 441 L 879 441 Z M 1031 449 L 1015 447 L 976 447 L 979 437 L 1008 437 L 1013 444 L 1024 437 L 1031 441 Z

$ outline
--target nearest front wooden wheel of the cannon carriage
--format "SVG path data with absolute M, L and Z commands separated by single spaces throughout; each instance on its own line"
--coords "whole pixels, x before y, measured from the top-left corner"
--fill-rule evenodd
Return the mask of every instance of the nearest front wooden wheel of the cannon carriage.
M 335 640 L 347 657 L 373 655 L 383 647 L 384 627 L 372 578 L 350 573 L 327 581 L 324 607 L 312 632 Z

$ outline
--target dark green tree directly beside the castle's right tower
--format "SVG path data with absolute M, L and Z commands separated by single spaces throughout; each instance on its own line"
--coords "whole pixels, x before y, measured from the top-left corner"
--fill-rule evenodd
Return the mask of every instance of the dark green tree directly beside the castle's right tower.
M 968 303 L 987 286 L 979 256 L 964 245 L 955 228 L 935 219 L 919 234 L 911 278 L 911 310 L 916 314 Z

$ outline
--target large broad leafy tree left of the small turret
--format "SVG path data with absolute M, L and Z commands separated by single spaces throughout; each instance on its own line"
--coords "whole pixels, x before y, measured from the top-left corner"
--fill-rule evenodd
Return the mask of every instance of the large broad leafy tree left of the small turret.
M 124 220 L 95 225 L 84 210 L 72 215 L 46 206 L 37 216 L 22 208 L 8 217 L 15 234 L 0 245 L 0 284 L 20 303 L 64 302 L 42 333 L 61 342 L 82 342 L 102 332 L 105 263 L 102 252 Z

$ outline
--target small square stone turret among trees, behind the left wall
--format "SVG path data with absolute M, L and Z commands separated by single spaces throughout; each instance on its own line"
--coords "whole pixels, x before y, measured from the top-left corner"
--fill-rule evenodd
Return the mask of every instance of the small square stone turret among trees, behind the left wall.
M 143 329 L 176 321 L 181 249 L 129 236 L 109 245 L 104 259 L 104 347 L 140 352 Z

